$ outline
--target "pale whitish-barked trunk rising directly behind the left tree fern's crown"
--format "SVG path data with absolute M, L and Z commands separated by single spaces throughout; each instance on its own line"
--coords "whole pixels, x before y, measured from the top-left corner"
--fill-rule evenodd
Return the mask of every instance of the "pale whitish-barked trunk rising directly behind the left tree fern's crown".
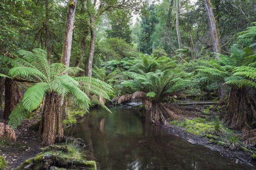
M 72 46 L 72 36 L 73 36 L 74 21 L 75 21 L 76 2 L 77 0 L 69 1 L 67 19 L 65 24 L 65 38 L 63 42 L 61 63 L 63 63 L 67 67 L 69 67 L 69 62 L 71 57 L 71 46 Z

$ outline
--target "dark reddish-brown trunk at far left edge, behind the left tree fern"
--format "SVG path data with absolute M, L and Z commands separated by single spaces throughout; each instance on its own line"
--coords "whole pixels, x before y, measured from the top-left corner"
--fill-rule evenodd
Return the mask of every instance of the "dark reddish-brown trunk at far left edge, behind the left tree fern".
M 5 79 L 5 110 L 3 111 L 3 117 L 9 120 L 11 111 L 15 108 L 15 88 L 14 81 L 10 78 Z

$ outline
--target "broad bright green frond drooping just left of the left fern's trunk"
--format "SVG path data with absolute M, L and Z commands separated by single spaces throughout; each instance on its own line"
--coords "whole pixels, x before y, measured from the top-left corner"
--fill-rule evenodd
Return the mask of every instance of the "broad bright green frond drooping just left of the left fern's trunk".
M 34 111 L 42 103 L 44 93 L 49 89 L 49 84 L 40 82 L 27 89 L 22 99 L 24 108 L 27 111 Z

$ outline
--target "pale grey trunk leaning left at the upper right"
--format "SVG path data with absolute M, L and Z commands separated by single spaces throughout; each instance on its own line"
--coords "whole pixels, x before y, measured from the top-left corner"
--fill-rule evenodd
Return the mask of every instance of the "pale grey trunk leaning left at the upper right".
M 207 18 L 209 23 L 209 29 L 210 29 L 210 37 L 212 37 L 212 45 L 213 45 L 213 52 L 215 53 L 221 53 L 220 50 L 220 42 L 218 41 L 218 34 L 217 29 L 215 25 L 215 19 L 212 11 L 212 4 L 210 3 L 210 0 L 204 0 L 205 9 L 207 11 Z

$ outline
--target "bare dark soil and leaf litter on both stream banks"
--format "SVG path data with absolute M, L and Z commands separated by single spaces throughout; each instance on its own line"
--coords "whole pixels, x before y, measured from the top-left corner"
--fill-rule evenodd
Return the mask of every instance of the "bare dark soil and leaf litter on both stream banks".
M 191 101 L 188 101 L 191 102 Z M 209 106 L 208 106 L 209 107 Z M 208 108 L 201 105 L 200 108 Z M 189 117 L 188 117 L 189 118 Z M 22 124 L 15 129 L 16 142 L 13 141 L 0 141 L 0 155 L 6 159 L 7 170 L 17 168 L 28 158 L 31 158 L 41 152 L 40 143 L 41 139 L 38 137 L 37 131 L 31 130 L 30 127 L 34 125 L 38 119 L 33 118 L 30 120 L 23 120 Z M 5 120 L 0 122 L 6 123 Z M 168 126 L 162 126 L 164 130 L 169 133 L 177 135 L 181 138 L 186 139 L 193 145 L 203 145 L 214 151 L 219 151 L 222 156 L 228 156 L 236 163 L 245 163 L 249 165 L 254 165 L 256 167 L 255 160 L 252 161 L 251 153 L 245 152 L 243 150 L 231 150 L 228 146 L 219 145 L 214 143 L 206 135 L 196 135 L 193 133 L 188 133 L 188 129 L 185 126 L 179 126 L 179 124 L 170 124 Z

